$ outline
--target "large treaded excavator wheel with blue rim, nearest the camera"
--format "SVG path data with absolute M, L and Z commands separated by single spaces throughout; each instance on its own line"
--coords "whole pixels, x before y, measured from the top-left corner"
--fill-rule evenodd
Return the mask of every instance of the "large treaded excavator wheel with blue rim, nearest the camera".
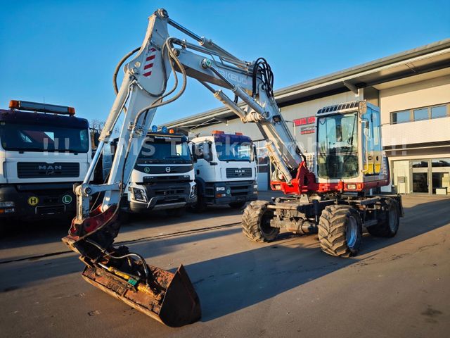
M 362 226 L 352 206 L 327 206 L 319 220 L 319 241 L 331 256 L 355 256 L 361 246 Z

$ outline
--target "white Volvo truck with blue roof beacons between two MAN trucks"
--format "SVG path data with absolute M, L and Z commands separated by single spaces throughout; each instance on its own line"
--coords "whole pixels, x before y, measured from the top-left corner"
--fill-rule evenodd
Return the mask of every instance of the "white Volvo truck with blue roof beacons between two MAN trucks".
M 179 216 L 197 201 L 194 167 L 188 138 L 153 125 L 131 172 L 128 211 L 166 210 Z

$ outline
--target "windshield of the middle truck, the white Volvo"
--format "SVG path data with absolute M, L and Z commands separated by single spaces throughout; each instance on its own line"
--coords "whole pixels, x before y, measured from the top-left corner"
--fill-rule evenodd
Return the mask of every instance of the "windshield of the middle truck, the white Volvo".
M 147 137 L 138 163 L 191 163 L 188 143 L 174 137 Z

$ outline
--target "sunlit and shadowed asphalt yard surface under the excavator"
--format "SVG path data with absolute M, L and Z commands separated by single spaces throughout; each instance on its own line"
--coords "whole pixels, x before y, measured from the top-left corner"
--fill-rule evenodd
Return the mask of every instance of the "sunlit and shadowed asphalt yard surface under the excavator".
M 117 242 L 160 268 L 184 264 L 200 296 L 201 320 L 176 329 L 84 282 L 60 242 L 68 224 L 18 224 L 0 240 L 0 336 L 449 337 L 450 199 L 404 196 L 404 208 L 396 237 L 364 234 L 345 259 L 316 235 L 250 242 L 225 207 L 132 218 Z

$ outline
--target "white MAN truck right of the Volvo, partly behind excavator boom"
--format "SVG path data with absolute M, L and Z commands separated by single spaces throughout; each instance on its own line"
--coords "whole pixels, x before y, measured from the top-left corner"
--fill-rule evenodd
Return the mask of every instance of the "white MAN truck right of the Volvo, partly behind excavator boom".
M 256 151 L 250 137 L 214 130 L 191 142 L 197 183 L 193 211 L 205 211 L 213 204 L 243 208 L 257 199 Z

